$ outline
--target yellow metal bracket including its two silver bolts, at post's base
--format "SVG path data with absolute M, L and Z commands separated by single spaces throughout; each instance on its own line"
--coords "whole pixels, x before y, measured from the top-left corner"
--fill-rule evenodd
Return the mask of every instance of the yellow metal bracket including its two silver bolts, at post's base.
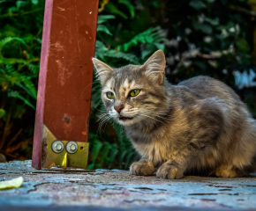
M 42 125 L 41 166 L 55 171 L 85 171 L 88 142 L 57 140 L 49 128 Z

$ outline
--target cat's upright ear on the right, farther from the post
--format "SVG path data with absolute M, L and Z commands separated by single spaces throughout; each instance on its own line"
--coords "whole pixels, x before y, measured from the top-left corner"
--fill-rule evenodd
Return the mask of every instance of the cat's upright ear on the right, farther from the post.
M 145 71 L 146 76 L 149 76 L 159 84 L 162 84 L 165 69 L 165 56 L 162 50 L 154 52 L 154 55 L 151 55 L 140 69 Z

